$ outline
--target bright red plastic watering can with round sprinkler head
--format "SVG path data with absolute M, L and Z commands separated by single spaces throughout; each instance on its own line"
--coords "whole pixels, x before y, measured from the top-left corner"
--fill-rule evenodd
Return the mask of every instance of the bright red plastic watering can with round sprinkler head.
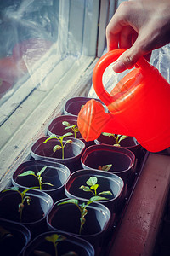
M 143 57 L 109 94 L 102 82 L 106 67 L 122 55 L 116 49 L 103 55 L 93 73 L 94 90 L 105 103 L 90 100 L 81 109 L 77 125 L 82 137 L 92 141 L 101 132 L 135 137 L 150 152 L 170 147 L 170 84 Z

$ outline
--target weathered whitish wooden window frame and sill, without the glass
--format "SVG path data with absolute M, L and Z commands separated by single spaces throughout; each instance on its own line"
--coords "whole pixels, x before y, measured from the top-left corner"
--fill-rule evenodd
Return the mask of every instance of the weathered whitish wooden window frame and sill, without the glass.
M 62 4 L 59 6 L 59 19 L 62 19 L 62 15 L 65 15 L 65 10 L 68 11 L 68 8 L 71 9 L 71 5 L 69 4 L 73 2 L 77 3 L 77 0 L 61 1 Z M 85 2 L 87 4 L 92 4 L 92 0 Z M 115 3 L 115 1 L 111 2 Z M 95 22 L 98 23 L 99 20 L 106 20 L 109 7 L 112 9 L 113 3 L 111 4 L 109 0 L 94 0 L 93 3 L 95 3 L 94 14 L 97 15 L 97 8 L 100 10 L 99 17 L 97 15 L 97 20 L 95 20 Z M 105 3 L 107 5 L 105 11 L 104 9 L 102 10 L 103 5 L 101 3 Z M 74 12 L 72 12 L 72 15 L 74 15 Z M 83 15 L 83 19 L 87 20 L 87 22 L 89 21 L 88 14 L 86 12 Z M 69 27 L 69 21 L 67 20 L 66 22 Z M 102 22 L 99 24 L 99 31 L 95 29 L 95 26 L 92 27 L 94 40 L 91 38 L 89 42 L 87 36 L 88 26 L 90 24 L 88 22 L 83 31 L 82 49 L 84 50 L 82 51 L 82 55 L 80 55 L 77 60 L 72 55 L 67 55 L 66 58 L 68 59 L 65 57 L 59 58 L 59 61 L 57 61 L 55 67 L 49 66 L 46 70 L 48 75 L 47 73 L 44 73 L 42 84 L 37 84 L 35 88 L 30 88 L 28 96 L 25 95 L 23 97 L 19 106 L 10 109 L 10 115 L 3 121 L 3 125 L 0 127 L 0 134 L 3 135 L 1 136 L 0 140 L 0 159 L 2 162 L 2 165 L 0 166 L 0 190 L 10 185 L 11 176 L 13 175 L 17 166 L 19 166 L 21 162 L 31 158 L 30 149 L 32 143 L 35 142 L 38 137 L 42 137 L 46 134 L 49 120 L 62 113 L 64 102 L 72 96 L 88 96 L 88 90 L 92 84 L 91 79 L 94 65 L 99 59 L 99 51 L 97 50 L 99 49 L 101 54 L 102 49 L 105 49 L 105 44 L 102 44 L 101 42 L 102 40 L 105 42 L 104 31 L 106 23 L 107 22 L 105 21 L 104 24 L 102 24 Z M 58 36 L 60 42 L 62 41 L 62 37 L 69 36 L 69 32 L 62 33 L 63 26 L 64 25 L 61 23 L 59 27 Z M 99 47 L 99 44 L 101 44 L 101 47 Z M 96 47 L 97 45 L 98 48 Z M 63 52 L 65 52 L 65 46 L 68 47 L 68 45 L 65 44 L 60 45 Z M 71 45 L 70 47 L 72 48 Z M 53 51 L 54 48 L 52 47 L 48 54 L 43 56 L 44 65 L 49 54 L 53 57 Z M 64 66 L 65 61 L 70 61 L 70 65 Z M 37 63 L 37 70 L 34 74 L 32 73 L 32 75 L 35 75 L 36 77 L 38 72 L 41 73 L 41 65 L 41 63 Z M 55 80 L 54 74 L 56 70 L 58 73 L 60 73 L 60 76 Z M 26 80 L 26 78 L 24 79 Z M 49 81 L 51 81 L 51 84 L 47 89 L 47 93 L 46 86 L 43 86 L 43 84 L 48 84 Z M 25 83 L 31 83 L 31 81 L 27 79 Z M 17 100 L 20 96 L 17 96 L 16 94 L 15 97 Z M 38 98 L 40 100 L 39 102 Z M 36 109 L 33 109 L 32 102 L 37 103 Z M 50 102 L 50 104 L 48 102 Z M 28 109 L 30 111 L 29 114 L 27 114 Z M 1 108 L 1 111 L 3 110 L 5 111 L 5 108 Z M 3 112 L 3 114 L 5 115 L 6 113 Z

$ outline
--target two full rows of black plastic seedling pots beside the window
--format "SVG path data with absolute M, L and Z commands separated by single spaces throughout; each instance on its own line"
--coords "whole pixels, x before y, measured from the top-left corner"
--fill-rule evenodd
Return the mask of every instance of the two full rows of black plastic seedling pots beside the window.
M 77 100 L 80 102 L 80 99 L 75 98 L 76 106 L 78 106 Z M 82 99 L 85 102 L 89 100 L 89 98 Z M 73 106 L 72 99 L 69 101 Z M 69 106 L 69 101 L 66 102 L 65 106 Z M 79 108 L 82 105 L 81 102 Z M 8 219 L 9 222 L 18 224 L 18 230 L 20 225 L 27 232 L 26 243 L 20 250 L 20 255 L 36 255 L 34 254 L 36 248 L 42 251 L 48 250 L 47 248 L 44 249 L 45 245 L 48 244 L 44 237 L 54 234 L 60 234 L 59 236 L 66 236 L 67 238 L 62 243 L 59 242 L 59 251 L 62 252 L 59 255 L 66 253 L 62 251 L 60 244 L 65 245 L 66 241 L 71 243 L 74 239 L 76 241 L 73 243 L 78 244 L 78 248 L 74 245 L 73 251 L 77 251 L 78 255 L 94 255 L 94 253 L 99 255 L 105 236 L 108 236 L 104 234 L 109 234 L 114 225 L 116 214 L 122 211 L 127 188 L 133 184 L 135 163 L 139 159 L 139 151 L 141 150 L 139 143 L 134 138 L 132 138 L 133 146 L 130 146 L 132 150 L 129 150 L 124 146 L 113 147 L 102 143 L 97 145 L 96 142 L 89 144 L 78 136 L 77 138 L 64 137 L 65 157 L 62 159 L 61 150 L 55 152 L 53 150 L 58 145 L 58 140 L 53 137 L 53 134 L 56 137 L 65 134 L 63 121 L 69 122 L 71 125 L 77 125 L 77 116 L 66 114 L 52 120 L 48 125 L 48 136 L 39 138 L 31 147 L 33 159 L 20 164 L 14 172 L 12 177 L 14 187 L 0 193 L 0 218 L 2 223 L 3 221 L 7 222 Z M 66 129 L 66 132 L 71 132 L 69 129 Z M 49 139 L 50 136 L 52 138 Z M 67 142 L 68 140 L 71 140 L 71 143 Z M 108 164 L 111 165 L 108 172 L 99 170 L 99 166 Z M 23 173 L 30 171 L 30 174 L 23 175 Z M 41 175 L 39 175 L 40 173 Z M 79 234 L 80 211 L 77 204 L 75 201 L 74 203 L 71 201 L 60 205 L 59 203 L 70 198 L 78 201 L 81 206 L 84 206 L 84 203 L 88 204 L 92 195 L 80 189 L 80 187 L 82 185 L 86 186 L 90 177 L 97 177 L 98 193 L 102 194 L 102 191 L 109 190 L 112 195 L 109 195 L 107 200 L 94 201 L 86 206 L 88 214 L 85 218 L 86 222 L 83 225 L 82 234 Z M 39 187 L 40 179 L 43 183 L 42 190 L 26 190 Z M 15 188 L 20 189 L 16 191 Z M 20 196 L 25 192 L 28 199 L 31 198 L 31 202 L 30 205 L 26 201 L 24 202 L 22 220 L 20 221 L 18 207 L 20 206 Z M 16 215 L 11 214 L 11 212 L 16 212 Z M 29 218 L 27 218 L 26 212 L 28 212 Z M 0 232 L 1 226 L 5 229 L 5 224 L 0 224 Z M 42 235 L 38 236 L 39 234 Z M 50 244 L 53 247 L 53 242 Z M 64 248 L 70 248 L 70 246 L 64 246 Z M 53 251 L 54 247 L 49 249 L 48 254 L 52 253 L 51 250 Z M 8 255 L 8 253 L 4 253 L 4 255 Z M 19 253 L 14 255 L 19 255 Z

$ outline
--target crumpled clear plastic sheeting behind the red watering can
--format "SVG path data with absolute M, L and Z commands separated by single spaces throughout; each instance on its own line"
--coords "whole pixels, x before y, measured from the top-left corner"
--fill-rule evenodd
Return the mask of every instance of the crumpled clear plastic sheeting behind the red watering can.
M 104 51 L 104 54 L 105 53 L 106 49 Z M 168 83 L 170 83 L 170 44 L 167 44 L 160 49 L 153 50 L 150 58 L 150 64 L 155 66 L 161 75 L 167 79 Z M 103 75 L 103 84 L 105 85 L 105 90 L 111 92 L 118 81 L 120 81 L 127 73 L 129 73 L 129 70 L 122 73 L 114 73 L 111 65 L 107 67 Z M 88 96 L 98 98 L 94 91 L 93 85 L 88 93 Z

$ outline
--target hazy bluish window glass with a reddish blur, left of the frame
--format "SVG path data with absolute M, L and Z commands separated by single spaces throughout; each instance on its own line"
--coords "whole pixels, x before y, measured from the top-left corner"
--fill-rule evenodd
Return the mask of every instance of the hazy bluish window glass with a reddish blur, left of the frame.
M 0 1 L 0 98 L 57 40 L 59 1 Z

